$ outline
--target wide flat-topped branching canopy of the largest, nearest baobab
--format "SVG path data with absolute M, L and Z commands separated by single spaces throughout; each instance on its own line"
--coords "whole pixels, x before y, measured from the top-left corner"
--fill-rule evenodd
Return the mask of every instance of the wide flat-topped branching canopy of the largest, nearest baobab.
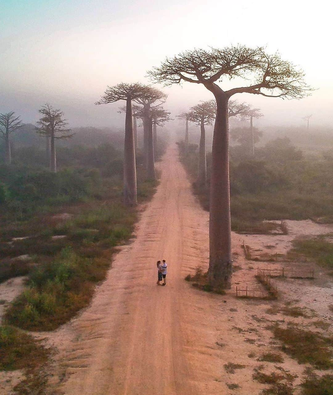
M 299 99 L 310 90 L 304 82 L 303 71 L 282 60 L 279 53 L 270 55 L 263 47 L 249 48 L 244 45 L 185 51 L 173 58 L 166 58 L 160 67 L 148 73 L 152 79 L 165 85 L 182 81 L 204 84 L 213 93 L 218 88 L 228 97 L 247 92 Z M 251 83 L 223 91 L 215 84 L 216 81 L 223 82 L 223 77 L 246 77 Z

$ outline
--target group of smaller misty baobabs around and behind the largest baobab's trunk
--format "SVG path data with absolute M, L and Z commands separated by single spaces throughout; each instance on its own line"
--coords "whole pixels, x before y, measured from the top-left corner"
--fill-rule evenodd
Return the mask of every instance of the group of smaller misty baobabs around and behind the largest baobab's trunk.
M 259 108 L 253 108 L 250 104 L 239 103 L 237 100 L 228 101 L 228 118 L 241 117 L 242 120 L 250 121 L 250 133 L 252 140 L 252 153 L 254 156 L 254 128 L 253 118 L 260 118 L 263 114 Z M 207 183 L 206 166 L 206 130 L 205 126 L 213 125 L 216 117 L 216 101 L 214 99 L 201 101 L 190 107 L 188 112 L 178 115 L 179 119 L 185 120 L 185 152 L 189 145 L 189 122 L 200 126 L 199 158 L 198 158 L 198 177 L 197 185 L 205 187 Z

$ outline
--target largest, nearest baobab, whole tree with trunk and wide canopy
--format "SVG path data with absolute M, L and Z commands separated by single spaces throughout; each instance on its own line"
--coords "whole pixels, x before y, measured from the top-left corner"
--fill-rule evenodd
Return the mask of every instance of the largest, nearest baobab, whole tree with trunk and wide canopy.
M 278 53 L 270 55 L 262 47 L 243 45 L 195 49 L 166 58 L 149 72 L 165 85 L 183 81 L 202 84 L 215 96 L 217 111 L 213 132 L 210 182 L 210 262 L 209 282 L 213 287 L 229 288 L 232 275 L 228 101 L 236 93 L 266 97 L 302 98 L 309 94 L 304 73 Z M 226 90 L 218 85 L 243 77 L 245 86 Z

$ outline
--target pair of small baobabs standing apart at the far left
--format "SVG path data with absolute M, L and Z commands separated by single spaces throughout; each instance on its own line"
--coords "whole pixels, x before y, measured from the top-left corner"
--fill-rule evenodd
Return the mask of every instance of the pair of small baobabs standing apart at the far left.
M 54 109 L 49 103 L 42 105 L 38 110 L 41 118 L 37 121 L 36 132 L 46 138 L 46 153 L 50 170 L 56 173 L 56 139 L 68 139 L 73 136 L 71 130 L 67 129 L 67 121 L 64 113 L 59 109 Z M 10 135 L 22 128 L 20 117 L 16 117 L 13 111 L 0 114 L 0 137 L 5 140 L 5 162 L 11 164 L 11 144 Z

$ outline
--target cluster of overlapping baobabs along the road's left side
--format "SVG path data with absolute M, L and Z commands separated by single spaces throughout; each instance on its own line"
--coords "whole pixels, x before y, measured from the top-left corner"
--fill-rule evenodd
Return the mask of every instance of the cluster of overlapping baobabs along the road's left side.
M 120 83 L 107 87 L 97 105 L 126 102 L 120 107 L 125 113 L 125 143 L 123 162 L 123 197 L 126 205 L 137 204 L 137 169 L 135 152 L 137 149 L 137 118 L 143 124 L 143 153 L 147 179 L 155 180 L 155 147 L 157 144 L 157 125 L 170 120 L 170 113 L 163 108 L 166 94 L 161 90 L 140 83 Z M 133 103 L 136 103 L 133 105 Z

